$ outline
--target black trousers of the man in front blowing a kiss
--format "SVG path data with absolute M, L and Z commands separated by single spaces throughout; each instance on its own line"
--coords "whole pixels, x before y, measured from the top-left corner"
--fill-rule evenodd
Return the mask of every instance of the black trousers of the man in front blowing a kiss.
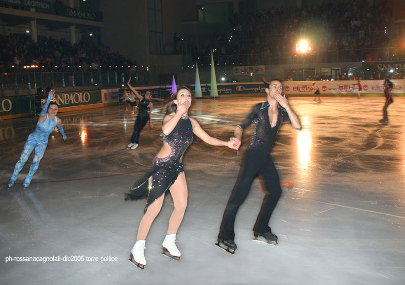
M 265 195 L 259 215 L 253 230 L 256 232 L 271 232 L 268 226 L 271 214 L 278 199 L 281 196 L 280 180 L 273 160 L 268 153 L 269 149 L 249 149 L 245 154 L 244 161 L 240 167 L 239 175 L 229 196 L 228 203 L 222 217 L 218 238 L 234 240 L 234 224 L 237 211 L 249 194 L 250 187 L 256 175 L 263 178 L 265 183 Z

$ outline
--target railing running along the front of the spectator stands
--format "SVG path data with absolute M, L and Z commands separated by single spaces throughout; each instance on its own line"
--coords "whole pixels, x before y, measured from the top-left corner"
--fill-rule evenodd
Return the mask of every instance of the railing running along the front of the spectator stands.
M 290 52 L 268 54 L 238 54 L 238 55 L 214 55 L 216 66 L 246 66 L 246 65 L 280 65 L 296 64 L 295 68 L 311 68 L 311 64 L 325 64 L 339 62 L 368 61 L 399 61 L 405 60 L 405 49 L 401 48 L 375 48 L 356 50 L 328 50 L 318 51 L 312 54 L 293 54 Z M 185 72 L 192 74 L 191 66 L 198 62 L 198 67 L 210 67 L 211 57 L 192 58 L 183 55 L 182 66 L 173 67 L 173 72 Z M 304 67 L 305 65 L 305 67 Z M 301 67 L 300 67 L 301 66 Z M 150 67 L 155 68 L 155 67 Z M 271 69 L 271 67 L 270 67 Z M 159 71 L 155 70 L 157 76 Z M 180 74 L 178 74 L 180 75 Z M 121 88 L 126 86 L 128 78 L 132 78 L 133 86 L 148 86 L 156 84 L 157 78 L 149 78 L 149 69 L 141 71 L 60 71 L 60 72 L 12 72 L 0 75 L 0 96 L 36 94 L 38 89 L 54 88 L 58 92 L 77 90 L 96 90 Z M 191 75 L 190 75 L 191 76 Z M 187 77 L 187 76 L 186 76 Z M 189 77 L 189 76 L 188 76 Z M 187 77 L 187 78 L 188 78 Z M 252 77 L 253 78 L 253 77 Z M 301 78 L 301 79 L 303 79 Z M 300 80 L 301 80 L 300 79 Z

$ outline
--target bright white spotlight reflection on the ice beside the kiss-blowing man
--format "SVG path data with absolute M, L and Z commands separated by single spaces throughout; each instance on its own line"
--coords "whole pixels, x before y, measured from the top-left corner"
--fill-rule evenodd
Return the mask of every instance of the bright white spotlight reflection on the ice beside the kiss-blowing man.
M 302 125 L 308 126 L 308 117 L 302 117 L 301 119 Z M 311 146 L 311 132 L 304 127 L 303 130 L 298 132 L 297 137 L 299 166 L 301 168 L 301 173 L 304 175 L 308 174 L 308 166 L 311 162 Z

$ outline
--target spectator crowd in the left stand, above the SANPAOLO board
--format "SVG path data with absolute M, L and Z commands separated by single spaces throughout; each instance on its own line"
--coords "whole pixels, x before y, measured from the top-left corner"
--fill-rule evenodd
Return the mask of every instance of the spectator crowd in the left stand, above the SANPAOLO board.
M 0 72 L 21 72 L 28 65 L 37 71 L 89 71 L 134 68 L 136 62 L 86 40 L 71 45 L 64 38 L 38 36 L 35 43 L 28 34 L 0 35 Z

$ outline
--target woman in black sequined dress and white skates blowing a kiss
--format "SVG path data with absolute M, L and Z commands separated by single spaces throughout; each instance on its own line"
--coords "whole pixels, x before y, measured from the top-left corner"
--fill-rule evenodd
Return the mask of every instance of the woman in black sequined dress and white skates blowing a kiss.
M 176 233 L 183 220 L 187 206 L 187 184 L 181 162 L 184 151 L 193 141 L 193 133 L 210 145 L 223 145 L 238 149 L 240 140 L 230 138 L 222 141 L 208 135 L 191 117 L 188 108 L 191 105 L 191 92 L 187 87 L 180 87 L 172 95 L 163 119 L 162 131 L 165 134 L 164 143 L 153 159 L 154 169 L 147 174 L 141 183 L 135 183 L 131 193 L 125 193 L 126 199 L 136 199 L 148 191 L 148 198 L 137 234 L 137 241 L 131 250 L 130 261 L 143 269 L 146 265 L 144 255 L 145 239 L 150 226 L 160 212 L 167 190 L 173 197 L 174 210 L 169 220 L 167 235 L 163 241 L 163 254 L 179 259 L 180 251 L 176 247 Z

